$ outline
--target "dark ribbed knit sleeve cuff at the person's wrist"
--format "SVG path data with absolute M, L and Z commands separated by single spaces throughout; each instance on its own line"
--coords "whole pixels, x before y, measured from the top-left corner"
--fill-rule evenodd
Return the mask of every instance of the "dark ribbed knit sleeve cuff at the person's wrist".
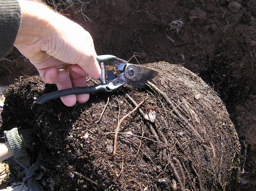
M 11 50 L 20 27 L 18 0 L 0 0 L 0 59 Z

